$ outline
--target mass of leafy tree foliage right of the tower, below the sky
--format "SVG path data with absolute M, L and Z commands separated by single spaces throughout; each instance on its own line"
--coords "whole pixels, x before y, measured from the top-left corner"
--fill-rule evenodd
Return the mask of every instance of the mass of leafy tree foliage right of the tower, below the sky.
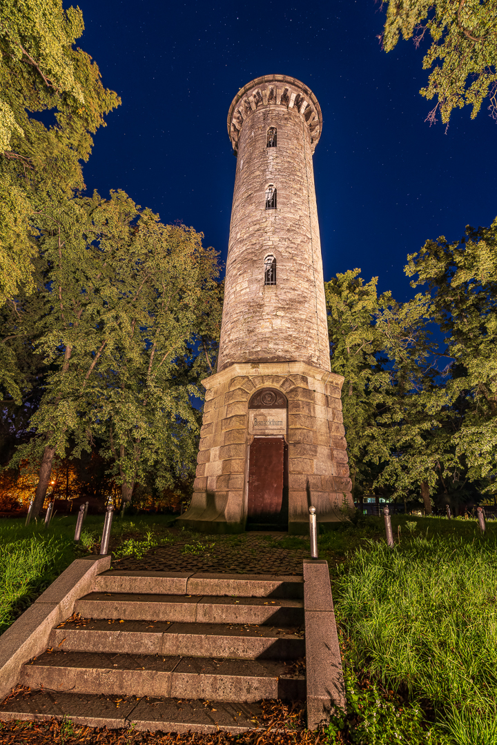
M 358 494 L 497 494 L 497 222 L 408 257 L 407 302 L 359 270 L 326 284 L 332 370 Z

